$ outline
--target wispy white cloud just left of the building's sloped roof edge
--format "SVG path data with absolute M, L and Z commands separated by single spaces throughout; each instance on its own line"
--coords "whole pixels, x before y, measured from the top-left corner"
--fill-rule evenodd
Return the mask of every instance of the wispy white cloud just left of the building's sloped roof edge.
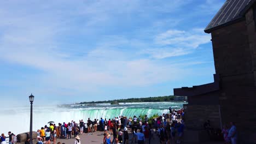
M 211 36 L 203 33 L 202 28 L 194 28 L 191 31 L 168 30 L 155 36 L 156 48 L 142 50 L 152 58 L 162 59 L 174 56 L 183 56 L 192 53 L 201 44 L 207 44 Z

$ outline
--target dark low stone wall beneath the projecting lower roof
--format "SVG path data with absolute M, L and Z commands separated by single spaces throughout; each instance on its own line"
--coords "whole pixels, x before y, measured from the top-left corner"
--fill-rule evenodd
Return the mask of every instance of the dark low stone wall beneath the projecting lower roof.
M 219 105 L 184 105 L 185 127 L 203 129 L 209 119 L 213 128 L 220 128 Z

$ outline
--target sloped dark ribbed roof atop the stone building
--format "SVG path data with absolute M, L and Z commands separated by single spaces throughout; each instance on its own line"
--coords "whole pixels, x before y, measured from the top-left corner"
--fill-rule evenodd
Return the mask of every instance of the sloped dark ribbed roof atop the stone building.
M 211 33 L 213 30 L 243 19 L 244 14 L 241 14 L 248 5 L 251 5 L 254 0 L 227 0 L 218 13 L 213 17 L 212 21 L 205 28 L 206 33 Z

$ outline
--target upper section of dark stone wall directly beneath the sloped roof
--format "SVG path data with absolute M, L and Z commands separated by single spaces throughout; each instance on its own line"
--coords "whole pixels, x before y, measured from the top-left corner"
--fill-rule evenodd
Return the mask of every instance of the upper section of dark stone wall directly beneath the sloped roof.
M 212 32 L 216 74 L 222 76 L 252 72 L 246 22 L 241 21 Z

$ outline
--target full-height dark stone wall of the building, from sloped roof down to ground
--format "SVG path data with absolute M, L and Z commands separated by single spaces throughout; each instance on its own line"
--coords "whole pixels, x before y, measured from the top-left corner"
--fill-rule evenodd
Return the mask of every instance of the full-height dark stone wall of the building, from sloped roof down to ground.
M 256 143 L 256 31 L 253 10 L 246 19 L 212 32 L 220 76 L 222 124 L 235 122 L 240 143 Z

